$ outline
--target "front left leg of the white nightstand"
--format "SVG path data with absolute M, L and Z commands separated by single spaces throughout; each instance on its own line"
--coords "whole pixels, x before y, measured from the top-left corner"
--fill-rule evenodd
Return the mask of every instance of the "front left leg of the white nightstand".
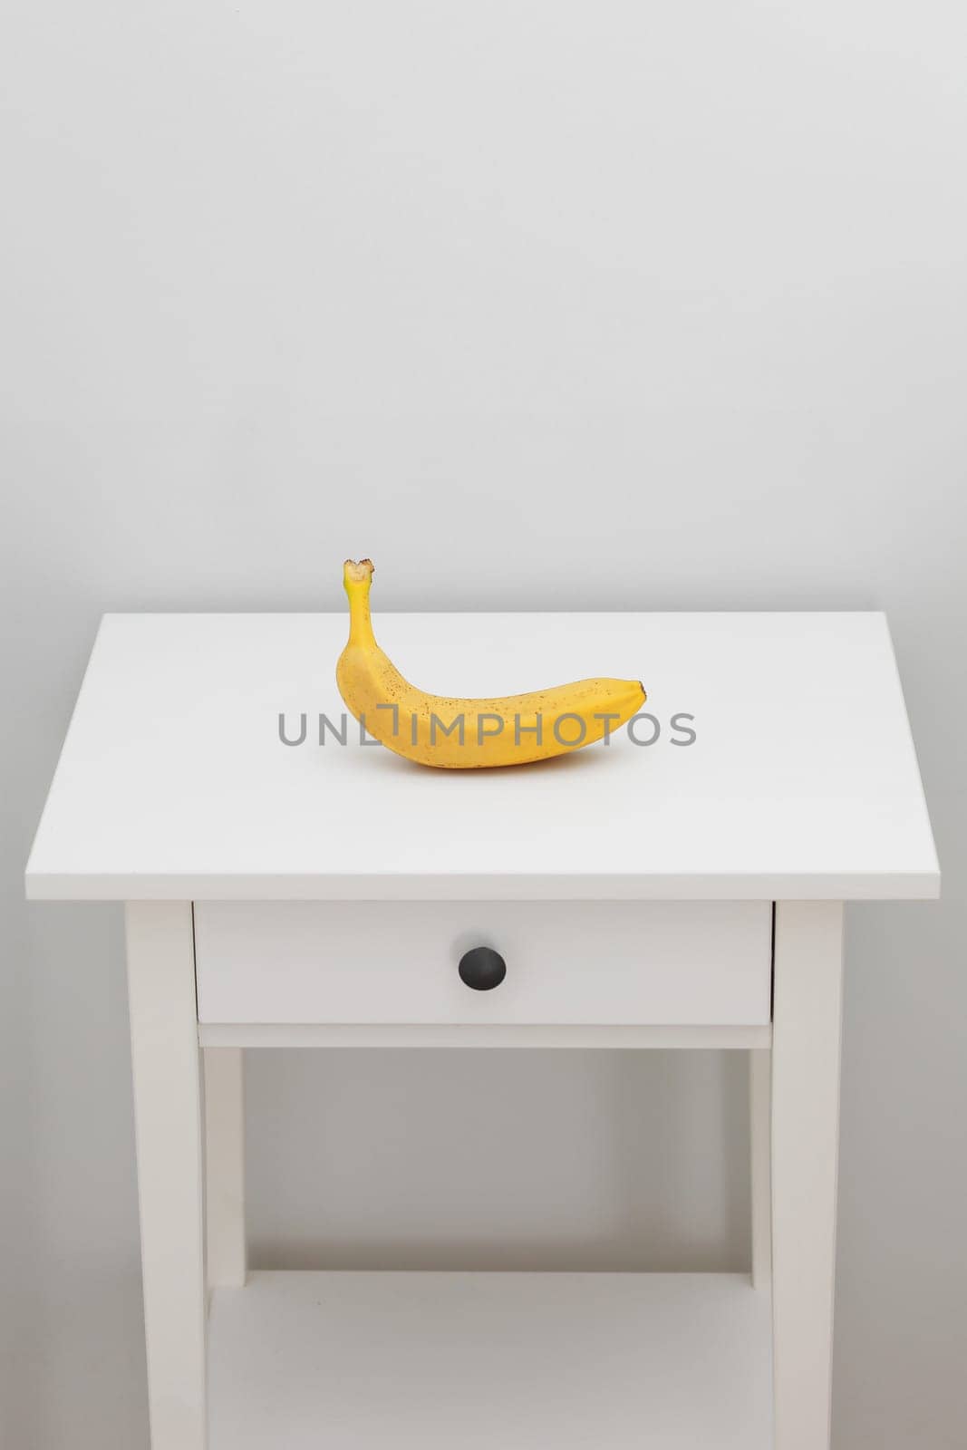
M 202 1114 L 190 902 L 129 902 L 128 995 L 152 1450 L 204 1450 Z

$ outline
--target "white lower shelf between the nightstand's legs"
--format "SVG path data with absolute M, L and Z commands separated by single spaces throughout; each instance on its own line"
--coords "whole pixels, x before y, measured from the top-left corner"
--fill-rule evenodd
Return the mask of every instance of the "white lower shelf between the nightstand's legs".
M 210 1450 L 768 1450 L 738 1275 L 252 1273 L 209 1320 Z

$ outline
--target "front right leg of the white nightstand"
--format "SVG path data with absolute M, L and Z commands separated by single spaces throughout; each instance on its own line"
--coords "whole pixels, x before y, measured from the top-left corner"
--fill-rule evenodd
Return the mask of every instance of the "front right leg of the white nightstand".
M 839 1141 L 842 903 L 776 908 L 776 1450 L 828 1450 Z

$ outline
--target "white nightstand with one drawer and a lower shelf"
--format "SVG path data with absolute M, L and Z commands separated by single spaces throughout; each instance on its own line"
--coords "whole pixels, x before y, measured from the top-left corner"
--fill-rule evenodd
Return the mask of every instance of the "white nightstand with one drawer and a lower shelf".
M 429 689 L 645 682 L 654 744 L 496 773 L 319 745 L 345 634 L 107 616 L 28 866 L 128 903 L 154 1450 L 823 1450 L 842 902 L 939 890 L 884 618 L 381 618 Z M 751 1277 L 246 1282 L 244 1050 L 346 1043 L 748 1051 Z

